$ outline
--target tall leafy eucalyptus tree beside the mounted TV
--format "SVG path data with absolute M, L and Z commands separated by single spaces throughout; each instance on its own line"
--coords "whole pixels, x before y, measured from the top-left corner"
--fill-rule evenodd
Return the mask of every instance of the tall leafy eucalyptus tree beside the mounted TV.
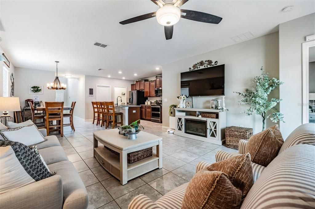
M 269 118 L 270 115 L 272 115 L 270 118 L 272 122 L 284 122 L 284 115 L 275 108 L 277 103 L 279 103 L 282 99 L 268 99 L 270 92 L 279 85 L 283 84 L 283 82 L 276 78 L 269 78 L 269 73 L 265 73 L 262 67 L 260 70 L 261 75 L 255 76 L 252 81 L 252 83 L 254 83 L 253 89 L 246 89 L 245 93 L 234 93 L 243 97 L 243 99 L 238 102 L 239 105 L 245 104 L 250 106 L 247 110 L 243 111 L 243 113 L 246 115 L 252 115 L 255 113 L 261 116 L 262 130 L 264 131 L 266 119 Z M 269 111 L 272 111 L 272 113 L 268 115 Z

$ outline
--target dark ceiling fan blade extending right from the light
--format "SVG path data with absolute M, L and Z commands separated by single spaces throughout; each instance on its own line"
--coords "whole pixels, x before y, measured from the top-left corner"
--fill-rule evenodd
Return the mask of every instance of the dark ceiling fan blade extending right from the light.
M 190 20 L 194 20 L 198 22 L 203 22 L 203 23 L 219 24 L 222 20 L 221 17 L 215 16 L 212 14 L 188 10 L 188 9 L 181 9 L 180 12 L 186 13 L 186 15 L 180 15 L 180 17 L 182 18 L 190 19 Z

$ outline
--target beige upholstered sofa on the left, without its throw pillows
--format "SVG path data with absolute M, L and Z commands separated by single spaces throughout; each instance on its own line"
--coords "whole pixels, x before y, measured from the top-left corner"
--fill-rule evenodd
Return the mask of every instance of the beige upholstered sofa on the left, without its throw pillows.
M 46 141 L 37 144 L 50 171 L 57 173 L 49 178 L 0 195 L 0 208 L 85 209 L 88 195 L 85 186 L 68 160 L 56 136 L 47 136 L 46 129 L 39 129 Z

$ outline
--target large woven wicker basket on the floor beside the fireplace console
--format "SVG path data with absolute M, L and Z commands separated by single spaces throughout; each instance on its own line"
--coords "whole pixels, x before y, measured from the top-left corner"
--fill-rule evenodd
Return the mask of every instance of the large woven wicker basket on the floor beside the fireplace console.
M 238 126 L 227 127 L 225 129 L 226 147 L 238 150 L 238 142 L 241 139 L 247 141 L 251 136 L 253 136 L 252 128 Z

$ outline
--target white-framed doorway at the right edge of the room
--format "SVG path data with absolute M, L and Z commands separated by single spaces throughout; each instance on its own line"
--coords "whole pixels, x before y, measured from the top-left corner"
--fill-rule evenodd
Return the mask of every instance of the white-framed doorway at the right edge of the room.
M 302 44 L 302 123 L 315 123 L 315 41 Z

